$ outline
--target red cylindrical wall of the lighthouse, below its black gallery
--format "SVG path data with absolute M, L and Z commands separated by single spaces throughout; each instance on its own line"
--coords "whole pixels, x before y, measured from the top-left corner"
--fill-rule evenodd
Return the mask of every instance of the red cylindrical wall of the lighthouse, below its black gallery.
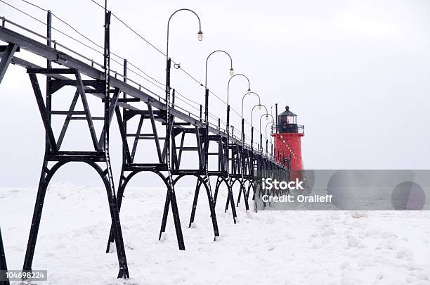
M 303 137 L 304 134 L 287 132 L 283 134 L 272 134 L 272 136 L 275 139 L 276 158 L 281 157 L 282 160 L 282 156 L 285 153 L 285 158 L 291 158 L 291 169 L 302 170 L 301 137 Z

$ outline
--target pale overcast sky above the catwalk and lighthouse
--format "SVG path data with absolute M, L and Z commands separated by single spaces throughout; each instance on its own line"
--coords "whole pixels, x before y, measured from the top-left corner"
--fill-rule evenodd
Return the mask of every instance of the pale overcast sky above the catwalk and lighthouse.
M 40 20 L 46 19 L 43 11 L 20 0 L 8 2 Z M 178 13 L 171 20 L 170 56 L 203 82 L 207 55 L 216 49 L 228 51 L 235 72 L 249 77 L 252 91 L 261 96 L 263 104 L 271 108 L 278 103 L 282 111 L 288 103 L 297 113 L 299 124 L 305 125 L 302 151 L 307 169 L 429 169 L 429 1 L 108 2 L 113 13 L 162 51 L 169 15 L 178 8 L 193 9 L 202 20 L 204 40 L 197 41 L 195 16 Z M 53 0 L 33 3 L 50 9 L 103 45 L 103 10 L 90 0 L 67 1 L 67 5 Z M 1 3 L 0 12 L 44 34 L 43 25 Z M 79 37 L 56 19 L 53 26 Z M 53 32 L 53 38 L 103 62 L 99 54 L 58 32 Z M 115 19 L 111 41 L 111 51 L 164 82 L 162 54 Z M 32 58 L 25 52 L 19 56 Z M 32 60 L 44 64 L 40 58 Z M 223 99 L 229 64 L 222 54 L 209 62 L 208 86 Z M 115 63 L 112 69 L 122 70 Z M 162 95 L 157 87 L 139 81 Z M 171 85 L 193 101 L 204 103 L 202 87 L 180 70 L 173 71 Z M 245 80 L 236 77 L 232 81 L 230 105 L 238 113 L 246 90 Z M 54 102 L 59 110 L 66 110 L 73 90 L 62 92 Z M 24 69 L 8 69 L 0 84 L 0 96 L 0 186 L 36 186 L 44 153 L 44 129 Z M 214 96 L 210 100 L 210 112 L 225 118 L 221 113 L 225 110 L 223 103 Z M 245 99 L 248 121 L 249 110 L 256 102 L 252 97 Z M 256 128 L 261 114 L 254 113 Z M 232 116 L 238 129 L 240 118 Z M 81 121 L 72 123 L 79 125 Z M 87 140 L 84 125 L 80 126 L 70 130 L 65 146 Z M 117 172 L 121 147 L 115 121 L 111 144 Z M 60 170 L 55 181 L 99 184 L 88 169 L 69 165 Z

